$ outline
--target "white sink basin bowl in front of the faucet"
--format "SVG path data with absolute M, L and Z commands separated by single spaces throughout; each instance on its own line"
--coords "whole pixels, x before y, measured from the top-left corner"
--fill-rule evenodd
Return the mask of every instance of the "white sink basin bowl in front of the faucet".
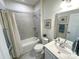
M 59 50 L 58 53 L 64 53 L 64 54 L 71 54 L 72 53 L 72 50 L 69 49 L 68 47 L 62 47 L 60 46 L 59 43 L 56 43 L 56 48 Z

